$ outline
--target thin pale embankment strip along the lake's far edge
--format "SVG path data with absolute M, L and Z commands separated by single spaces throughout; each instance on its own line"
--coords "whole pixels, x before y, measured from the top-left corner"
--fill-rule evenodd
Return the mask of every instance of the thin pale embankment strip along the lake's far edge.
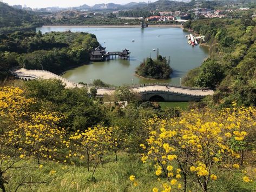
M 141 28 L 141 25 L 43 25 L 43 28 Z M 153 28 L 182 28 L 182 25 L 148 25 Z

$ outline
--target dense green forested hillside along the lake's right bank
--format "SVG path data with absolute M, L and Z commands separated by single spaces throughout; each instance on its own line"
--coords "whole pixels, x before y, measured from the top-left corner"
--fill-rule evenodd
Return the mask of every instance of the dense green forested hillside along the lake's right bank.
M 239 105 L 256 104 L 255 23 L 250 15 L 244 15 L 239 19 L 203 19 L 184 25 L 205 35 L 210 46 L 209 58 L 183 79 L 188 86 L 216 89 L 204 104 L 220 108 L 233 101 Z

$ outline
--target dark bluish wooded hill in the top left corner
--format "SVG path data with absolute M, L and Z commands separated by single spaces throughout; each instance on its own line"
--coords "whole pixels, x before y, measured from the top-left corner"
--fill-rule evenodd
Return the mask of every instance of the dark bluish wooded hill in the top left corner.
M 0 2 L 0 33 L 11 32 L 12 29 L 25 30 L 35 28 L 44 23 L 35 12 L 15 9 L 6 3 Z

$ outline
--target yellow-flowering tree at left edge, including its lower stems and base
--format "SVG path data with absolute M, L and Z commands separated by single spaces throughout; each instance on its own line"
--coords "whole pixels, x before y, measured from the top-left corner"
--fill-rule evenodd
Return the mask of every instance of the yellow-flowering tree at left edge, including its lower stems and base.
M 27 98 L 24 91 L 15 87 L 0 88 L 0 188 L 10 178 L 4 175 L 16 169 L 27 156 L 54 158 L 57 147 L 65 136 L 65 129 L 58 123 L 63 116 L 55 112 L 39 110 L 34 112 L 37 101 Z M 19 165 L 19 168 L 21 166 Z

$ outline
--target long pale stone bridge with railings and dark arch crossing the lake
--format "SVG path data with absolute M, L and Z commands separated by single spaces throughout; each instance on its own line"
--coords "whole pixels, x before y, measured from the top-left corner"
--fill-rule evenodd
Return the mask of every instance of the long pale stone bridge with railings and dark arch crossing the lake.
M 11 71 L 12 75 L 25 81 L 30 80 L 41 80 L 57 78 L 61 80 L 66 88 L 82 88 L 87 87 L 90 90 L 89 85 L 78 84 L 71 82 L 61 76 L 53 74 L 50 71 L 45 70 L 27 70 L 24 68 Z M 133 85 L 130 90 L 139 93 L 144 101 L 200 101 L 207 95 L 213 95 L 214 91 L 211 89 L 199 89 L 199 88 L 189 88 L 180 87 L 176 85 L 166 84 L 142 84 Z M 97 88 L 97 96 L 103 97 L 104 95 L 112 95 L 115 92 L 115 88 Z

